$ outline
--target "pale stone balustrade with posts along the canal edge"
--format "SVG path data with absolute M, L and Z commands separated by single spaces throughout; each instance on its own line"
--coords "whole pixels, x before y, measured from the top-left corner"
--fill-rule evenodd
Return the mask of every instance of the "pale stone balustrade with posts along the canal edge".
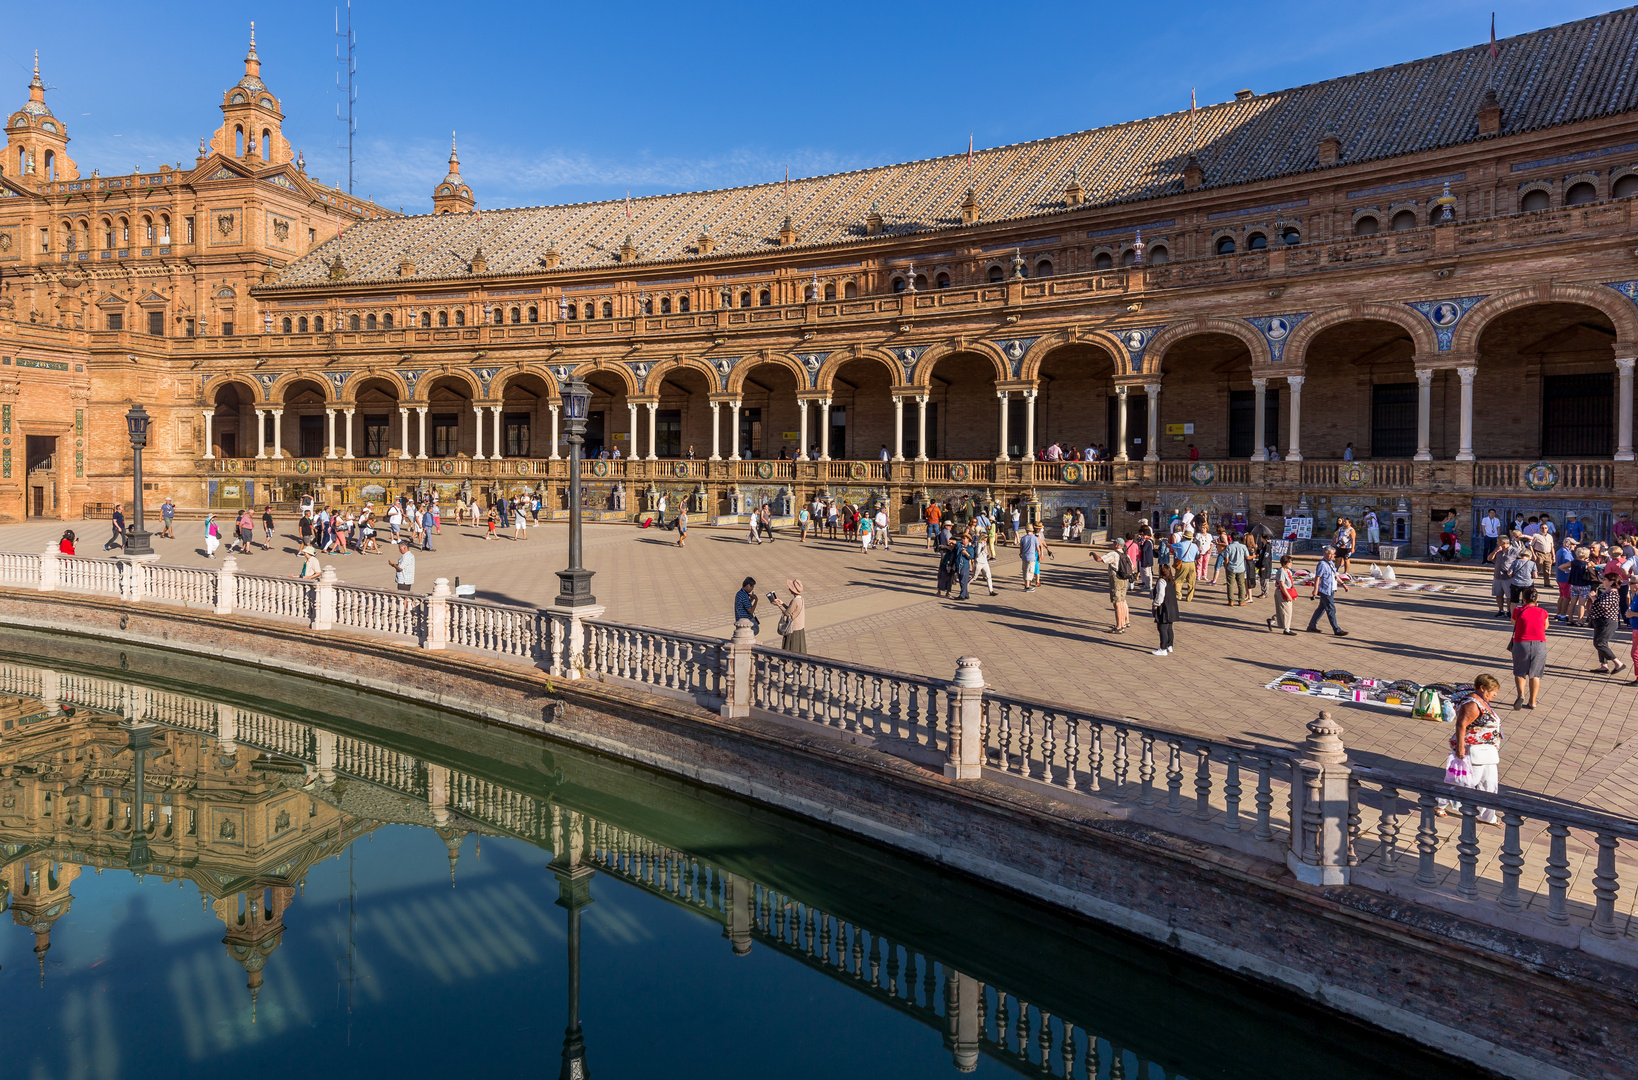
M 518 608 L 450 595 L 129 560 L 0 552 L 0 587 L 349 629 L 411 647 L 462 649 L 871 744 L 1183 834 L 1224 852 L 1283 862 L 1315 887 L 1356 885 L 1461 914 L 1479 926 L 1638 967 L 1631 880 L 1638 821 L 1528 792 L 1476 793 L 1435 775 L 1348 762 L 1328 713 L 1299 747 L 1269 747 L 1142 724 L 986 687 L 980 660 L 953 678 L 889 672 L 758 646 L 750 623 L 722 641 L 604 621 L 603 608 Z M 287 751 L 288 752 L 288 751 Z M 1481 815 L 1497 818 L 1481 826 Z M 1622 842 L 1627 849 L 1622 849 Z

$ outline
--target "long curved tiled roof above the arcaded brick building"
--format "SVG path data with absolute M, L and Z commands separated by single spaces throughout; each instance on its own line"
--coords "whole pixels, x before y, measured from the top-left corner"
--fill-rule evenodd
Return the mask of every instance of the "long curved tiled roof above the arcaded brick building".
M 1479 44 L 1358 75 L 1094 128 L 973 154 L 808 177 L 785 184 L 652 195 L 624 202 L 488 210 L 483 213 L 364 221 L 292 264 L 278 285 L 329 280 L 336 254 L 349 282 L 398 279 L 405 252 L 411 280 L 459 277 L 482 243 L 490 274 L 542 269 L 552 247 L 563 267 L 613 267 L 627 234 L 642 261 L 688 259 L 701 233 L 713 254 L 763 252 L 790 215 L 798 246 L 863 238 L 875 205 L 885 234 L 960 226 L 968 185 L 981 220 L 1016 220 L 1063 210 L 1076 172 L 1089 205 L 1179 192 L 1196 152 L 1207 187 L 1250 184 L 1319 169 L 1327 131 L 1342 161 L 1361 162 L 1430 151 L 1477 138 L 1477 108 L 1494 85 L 1502 134 L 1625 113 L 1638 108 L 1638 8 L 1507 38 L 1489 59 Z

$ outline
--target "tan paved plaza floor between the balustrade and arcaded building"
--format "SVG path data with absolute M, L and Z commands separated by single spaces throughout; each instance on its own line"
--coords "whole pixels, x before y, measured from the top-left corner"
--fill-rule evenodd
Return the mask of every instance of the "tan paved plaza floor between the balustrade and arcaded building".
M 106 524 L 74 524 L 80 554 L 100 554 Z M 179 523 L 179 529 L 182 539 L 154 541 L 161 562 L 213 565 L 205 559 L 201 523 Z M 61 531 L 61 524 L 0 526 L 0 549 L 41 551 Z M 434 579 L 447 577 L 475 585 L 478 600 L 549 605 L 557 593 L 554 570 L 565 565 L 567 536 L 565 524 L 552 523 L 523 541 L 485 541 L 477 529 L 446 523 L 434 551 L 416 552 L 416 590 L 428 592 Z M 726 638 L 740 579 L 755 577 L 758 595 L 773 588 L 783 597 L 785 579 L 799 577 L 808 595 L 809 649 L 821 656 L 948 677 L 958 656 L 975 654 L 986 682 L 1006 692 L 1266 744 L 1301 741 L 1304 724 L 1324 706 L 1345 726 L 1348 747 L 1363 764 L 1430 770 L 1443 764 L 1448 728 L 1414 721 L 1409 713 L 1278 693 L 1265 683 L 1287 667 L 1451 683 L 1487 670 L 1504 687 L 1504 785 L 1638 813 L 1638 762 L 1631 760 L 1638 742 L 1630 742 L 1638 731 L 1638 688 L 1627 685 L 1630 672 L 1613 678 L 1587 674 L 1595 662 L 1590 631 L 1554 628 L 1541 706 L 1510 711 L 1510 623 L 1491 615 L 1487 574 L 1412 565 L 1400 567 L 1400 577 L 1463 588 L 1455 595 L 1340 593 L 1348 638 L 1333 638 L 1328 629 L 1271 634 L 1265 629 L 1271 600 L 1228 608 L 1222 585 L 1202 587 L 1183 605 L 1176 652 L 1155 657 L 1145 597 L 1133 595 L 1127 634 L 1106 633 L 1112 623 L 1107 575 L 1086 547 L 1058 546 L 1057 557 L 1045 562 L 1043 588 L 1034 593 L 1022 592 L 1014 549 L 1001 547 L 998 595 L 975 582 L 973 600 L 963 603 L 934 593 L 935 559 L 919 538 L 901 539 L 885 554 L 842 541 L 801 544 L 793 536 L 753 546 L 739 529 L 696 528 L 683 549 L 675 539 L 675 533 L 627 524 L 586 526 L 586 565 L 596 572 L 598 600 L 608 605 L 604 618 Z M 283 534 L 272 552 L 239 556 L 239 569 L 288 575 L 296 570 L 295 551 L 296 542 Z M 344 582 L 390 587 L 387 560 L 380 554 L 324 562 Z M 1304 590 L 1299 628 L 1310 613 Z M 767 644 L 778 644 L 776 615 L 762 619 Z M 1625 641 L 1618 647 L 1625 656 Z

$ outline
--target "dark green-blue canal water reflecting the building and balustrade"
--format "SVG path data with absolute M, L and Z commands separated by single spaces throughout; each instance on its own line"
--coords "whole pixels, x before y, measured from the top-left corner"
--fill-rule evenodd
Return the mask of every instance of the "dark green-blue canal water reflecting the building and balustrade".
M 1477 1075 L 618 760 L 8 631 L 0 890 L 20 1078 Z

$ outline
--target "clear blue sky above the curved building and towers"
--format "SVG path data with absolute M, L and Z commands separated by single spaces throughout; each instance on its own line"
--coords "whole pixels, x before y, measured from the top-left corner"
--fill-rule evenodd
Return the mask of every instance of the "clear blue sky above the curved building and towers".
M 431 210 L 449 133 L 482 206 L 732 187 L 998 146 L 1476 46 L 1602 3 L 421 3 L 357 0 L 359 195 Z M 336 5 L 74 5 L 11 20 L 84 172 L 182 161 L 221 123 L 249 21 L 285 136 L 346 182 Z M 28 36 L 38 26 L 38 41 Z M 51 26 L 51 33 L 48 33 Z M 72 43 L 72 44 L 70 44 Z

